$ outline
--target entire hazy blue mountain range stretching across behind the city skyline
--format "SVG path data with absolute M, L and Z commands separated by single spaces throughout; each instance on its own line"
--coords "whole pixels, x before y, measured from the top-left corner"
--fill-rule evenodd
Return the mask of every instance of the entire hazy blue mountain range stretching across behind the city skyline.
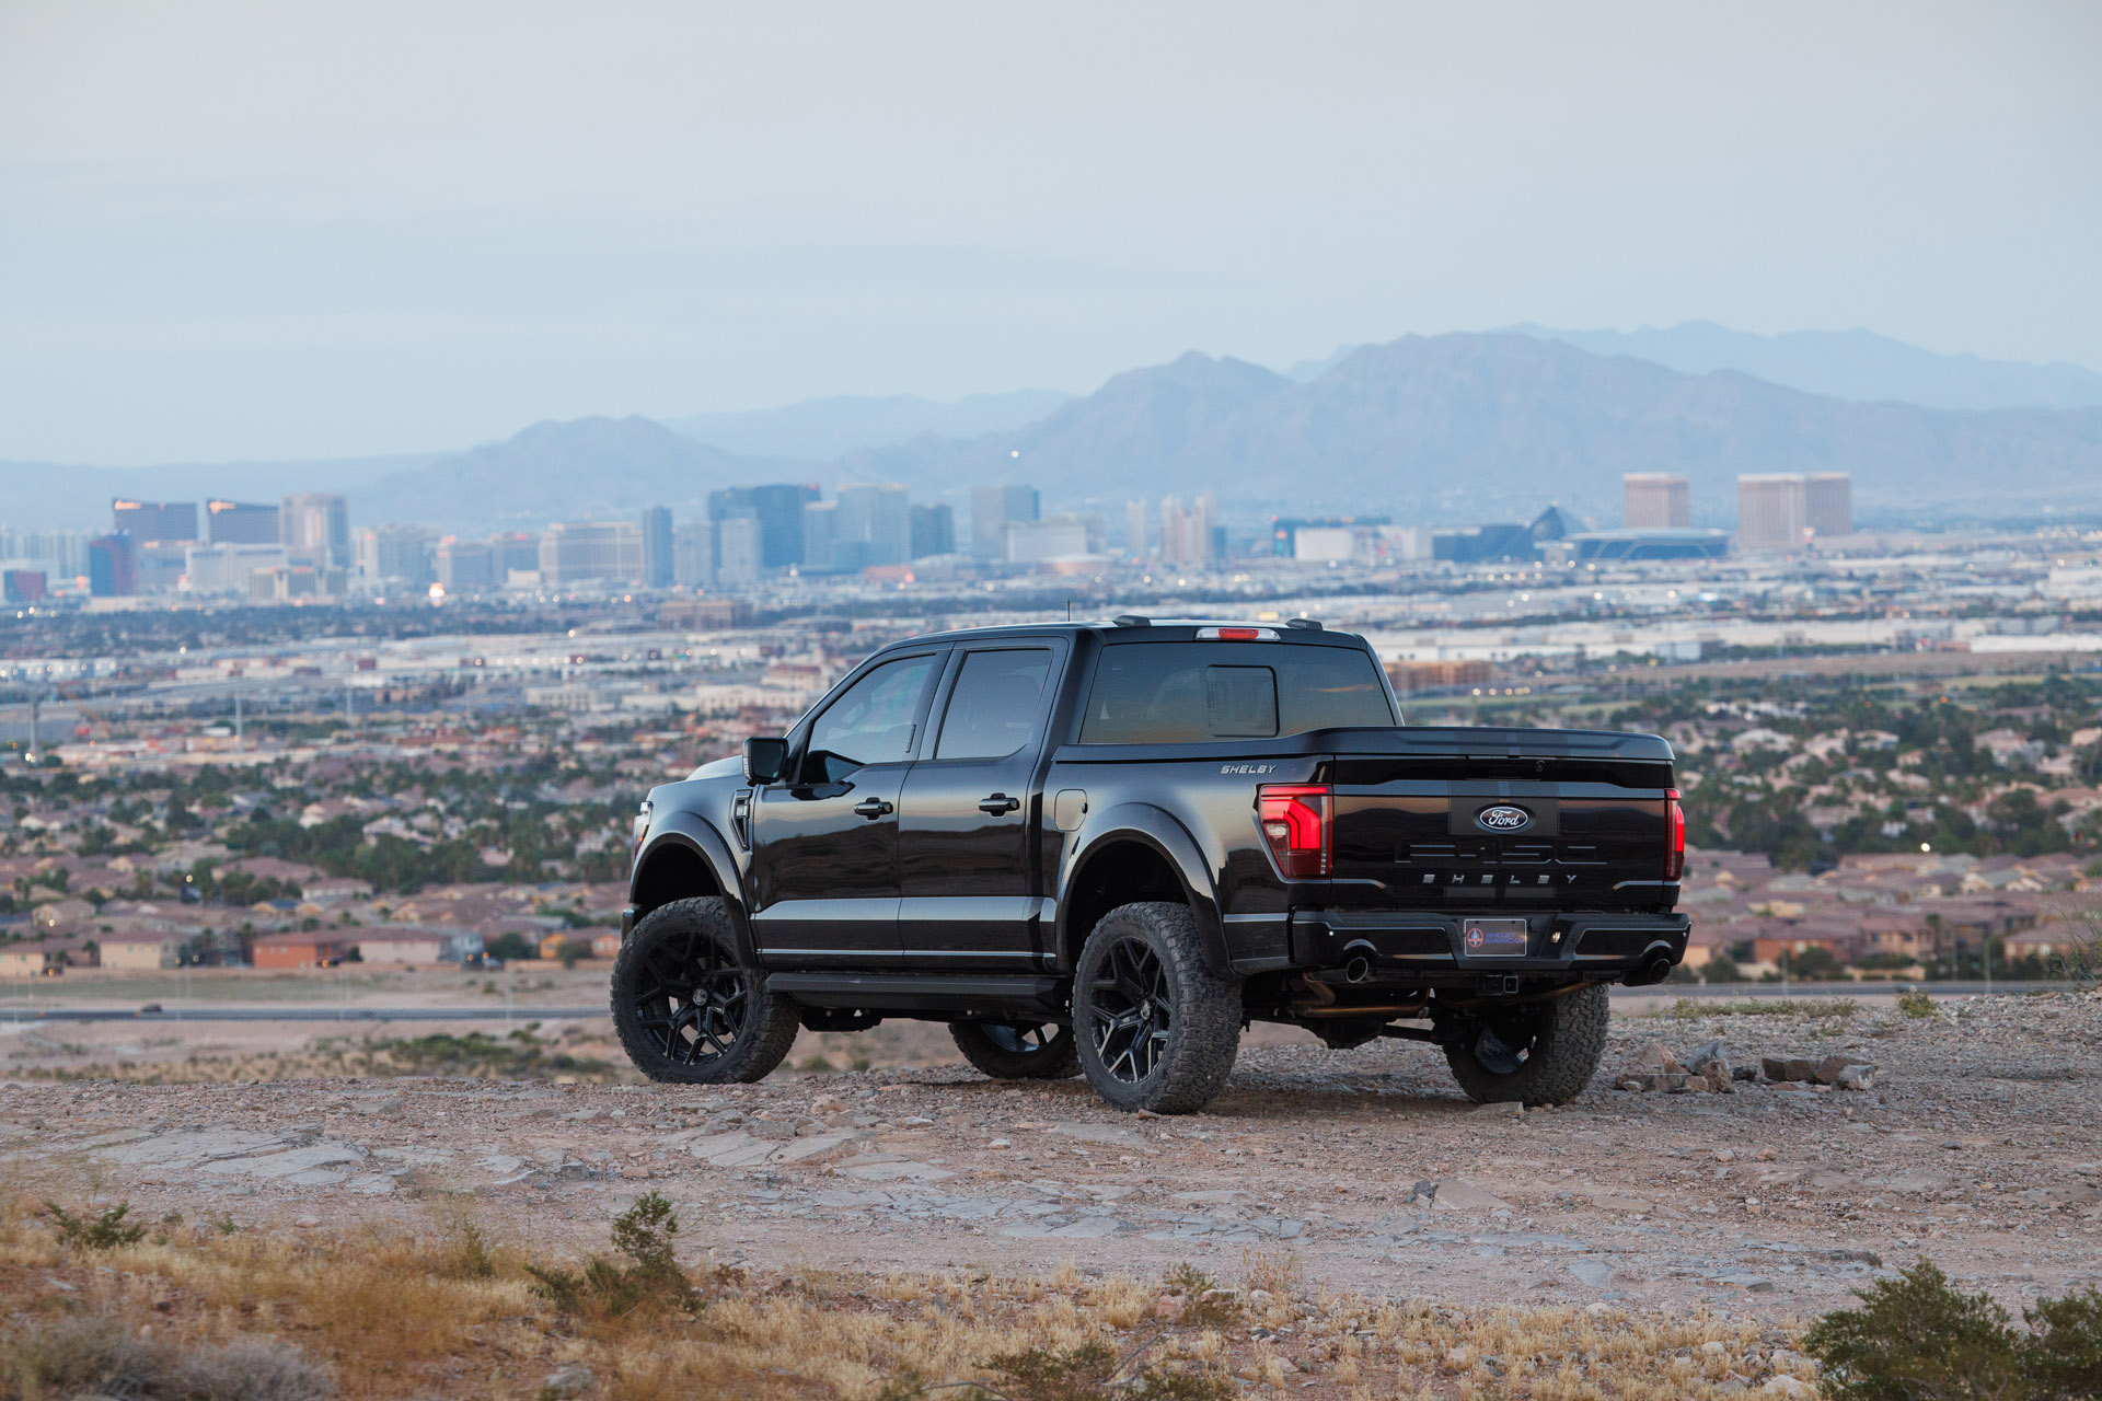
M 1028 481 L 1047 508 L 1097 510 L 1211 489 L 1230 517 L 1423 523 L 1505 519 L 1560 500 L 1616 519 L 1621 473 L 1682 471 L 1696 521 L 1726 525 L 1738 473 L 1848 471 L 1858 500 L 1885 515 L 2014 515 L 2085 502 L 2102 483 L 2102 407 L 2083 401 L 2081 380 L 2102 376 L 1936 357 L 1875 336 L 1856 344 L 1867 332 L 1806 336 L 1698 323 L 1629 334 L 1522 328 L 1404 336 L 1284 374 L 1190 353 L 1076 399 L 820 399 L 664 422 L 542 422 L 412 458 L 126 471 L 0 462 L 0 521 L 92 525 L 107 521 L 116 494 L 269 500 L 343 489 L 359 525 L 538 529 L 650 504 L 696 515 L 710 489 L 750 481 L 902 481 L 921 500 L 954 502 L 971 485 Z M 1661 363 L 1667 355 L 1682 365 Z M 1759 355 L 1778 357 L 1772 374 L 1711 363 Z M 1911 365 L 1909 393 L 1965 407 L 1883 397 L 1892 365 Z M 1782 374 L 1822 389 L 1778 382 Z M 1936 376 L 1942 391 L 1928 384 Z

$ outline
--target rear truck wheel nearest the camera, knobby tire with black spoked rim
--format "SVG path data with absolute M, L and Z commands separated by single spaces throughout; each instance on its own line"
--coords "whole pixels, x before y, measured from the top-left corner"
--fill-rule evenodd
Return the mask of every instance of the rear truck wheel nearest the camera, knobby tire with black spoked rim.
M 1112 960 L 1118 949 L 1152 952 L 1156 964 L 1143 1023 L 1106 1025 L 1129 1012 L 1112 1015 L 1110 1004 L 1129 1004 L 1131 994 L 1118 983 Z M 1141 960 L 1143 962 L 1143 960 Z M 1165 994 L 1167 1025 L 1156 1031 L 1158 1000 Z M 1146 1067 L 1118 1054 L 1114 1038 L 1129 1038 L 1146 1027 Z M 1072 981 L 1072 1029 L 1080 1050 L 1080 1071 L 1110 1107 L 1125 1111 L 1190 1113 L 1209 1105 L 1234 1071 L 1240 1050 L 1240 985 L 1204 966 L 1196 916 L 1188 905 L 1137 903 L 1118 905 L 1101 916 L 1080 945 L 1080 962 Z M 1118 1069 L 1104 1063 L 1104 1038 L 1116 1054 Z

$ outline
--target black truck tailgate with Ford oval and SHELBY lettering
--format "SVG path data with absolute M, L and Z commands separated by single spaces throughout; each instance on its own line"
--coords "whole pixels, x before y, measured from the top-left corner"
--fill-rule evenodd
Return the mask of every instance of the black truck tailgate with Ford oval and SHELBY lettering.
M 1562 729 L 1358 729 L 1335 744 L 1337 905 L 1667 907 L 1671 746 Z

